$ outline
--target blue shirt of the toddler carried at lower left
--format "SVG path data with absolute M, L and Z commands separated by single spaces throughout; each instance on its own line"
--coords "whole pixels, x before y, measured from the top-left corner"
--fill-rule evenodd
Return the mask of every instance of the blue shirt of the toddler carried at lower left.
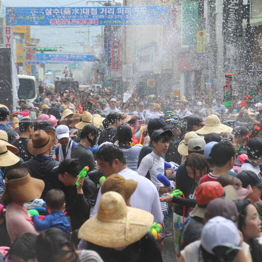
M 49 227 L 58 227 L 64 230 L 67 234 L 70 233 L 70 223 L 61 211 L 54 211 L 52 214 L 47 215 L 43 220 L 40 220 L 38 215 L 33 215 L 32 219 L 37 231 L 42 231 Z

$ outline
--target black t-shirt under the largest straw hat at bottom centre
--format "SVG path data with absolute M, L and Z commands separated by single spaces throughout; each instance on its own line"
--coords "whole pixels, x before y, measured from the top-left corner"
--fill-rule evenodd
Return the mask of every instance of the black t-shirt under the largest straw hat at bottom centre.
M 87 242 L 87 249 L 96 251 L 104 262 L 162 262 L 161 252 L 155 237 L 147 233 L 139 241 L 118 251 Z

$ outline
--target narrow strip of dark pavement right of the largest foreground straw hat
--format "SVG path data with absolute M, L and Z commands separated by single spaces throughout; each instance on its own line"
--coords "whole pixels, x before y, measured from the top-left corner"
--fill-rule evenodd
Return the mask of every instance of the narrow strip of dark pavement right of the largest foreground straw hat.
M 173 213 L 171 213 L 167 219 L 166 230 L 172 232 L 172 235 L 166 236 L 164 239 L 164 249 L 162 251 L 163 262 L 175 262 Z

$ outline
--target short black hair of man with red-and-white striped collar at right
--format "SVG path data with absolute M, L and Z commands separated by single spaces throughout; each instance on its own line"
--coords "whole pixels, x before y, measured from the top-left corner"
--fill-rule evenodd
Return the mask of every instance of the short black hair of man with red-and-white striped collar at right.
M 214 145 L 210 157 L 217 167 L 223 167 L 235 156 L 235 149 L 229 141 L 221 141 Z

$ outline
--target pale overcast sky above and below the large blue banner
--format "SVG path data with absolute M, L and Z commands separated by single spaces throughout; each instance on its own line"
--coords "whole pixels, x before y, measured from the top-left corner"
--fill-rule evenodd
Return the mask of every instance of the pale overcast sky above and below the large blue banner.
M 94 0 L 96 1 L 96 0 Z M 1 0 L 0 0 L 1 2 Z M 2 0 L 4 7 L 85 7 L 86 0 Z M 117 1 L 120 2 L 120 1 Z M 88 4 L 88 6 L 94 6 Z M 99 4 L 95 4 L 99 6 Z M 41 46 L 60 46 L 64 45 L 63 52 L 82 52 L 83 49 L 75 42 L 86 42 L 87 34 L 76 33 L 77 31 L 87 32 L 87 27 L 72 27 L 72 28 L 52 28 L 52 27 L 31 27 L 31 37 L 40 38 Z M 101 33 L 101 27 L 89 27 L 90 40 L 94 40 L 94 36 Z

